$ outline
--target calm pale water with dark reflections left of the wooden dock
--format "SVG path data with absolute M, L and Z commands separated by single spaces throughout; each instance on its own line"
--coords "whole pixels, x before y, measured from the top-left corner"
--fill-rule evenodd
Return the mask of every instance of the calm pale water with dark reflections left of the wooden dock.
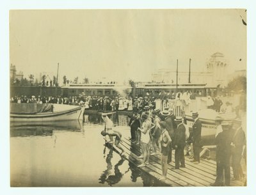
M 111 117 L 115 129 L 129 136 L 127 116 Z M 156 179 L 104 146 L 97 115 L 84 123 L 11 123 L 12 186 L 108 187 L 163 186 Z

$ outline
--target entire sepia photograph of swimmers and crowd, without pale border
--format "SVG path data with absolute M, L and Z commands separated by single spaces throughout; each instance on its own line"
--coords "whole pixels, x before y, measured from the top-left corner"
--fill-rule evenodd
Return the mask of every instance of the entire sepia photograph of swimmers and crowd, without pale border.
M 10 187 L 247 186 L 246 9 L 9 14 Z

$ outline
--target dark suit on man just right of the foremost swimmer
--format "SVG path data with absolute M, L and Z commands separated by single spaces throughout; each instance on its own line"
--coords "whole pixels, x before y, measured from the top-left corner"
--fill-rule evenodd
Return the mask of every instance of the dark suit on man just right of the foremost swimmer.
M 175 130 L 175 139 L 173 141 L 175 147 L 175 169 L 179 169 L 181 166 L 185 166 L 184 159 L 184 147 L 186 145 L 186 128 L 183 124 L 178 125 Z

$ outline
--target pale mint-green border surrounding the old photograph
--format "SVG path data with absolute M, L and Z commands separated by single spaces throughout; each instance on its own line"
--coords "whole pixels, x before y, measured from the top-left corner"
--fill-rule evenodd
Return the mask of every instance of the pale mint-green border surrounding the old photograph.
M 256 3 L 253 1 L 7 1 L 1 3 L 1 136 L 0 136 L 0 192 L 2 194 L 157 194 L 159 192 L 167 193 L 180 193 L 180 194 L 253 194 L 255 193 L 255 138 L 256 134 L 253 128 L 252 121 L 255 114 L 255 68 L 253 65 L 255 61 L 255 20 L 256 20 Z M 246 8 L 247 9 L 247 145 L 248 145 L 248 182 L 247 187 L 36 187 L 36 188 L 17 188 L 10 187 L 10 123 L 9 123 L 9 66 L 10 66 L 10 45 L 9 45 L 9 10 L 39 10 L 39 9 L 158 9 L 158 8 Z M 234 40 L 235 42 L 236 40 Z M 7 95 L 6 95 L 7 94 Z

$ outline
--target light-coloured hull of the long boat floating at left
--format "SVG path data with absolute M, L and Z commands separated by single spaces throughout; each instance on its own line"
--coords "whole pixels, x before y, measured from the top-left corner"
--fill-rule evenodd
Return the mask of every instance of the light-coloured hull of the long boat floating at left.
M 29 121 L 64 121 L 64 120 L 83 120 L 84 107 L 75 107 L 66 111 L 57 111 L 53 113 L 37 114 L 10 114 L 11 122 L 29 122 Z

